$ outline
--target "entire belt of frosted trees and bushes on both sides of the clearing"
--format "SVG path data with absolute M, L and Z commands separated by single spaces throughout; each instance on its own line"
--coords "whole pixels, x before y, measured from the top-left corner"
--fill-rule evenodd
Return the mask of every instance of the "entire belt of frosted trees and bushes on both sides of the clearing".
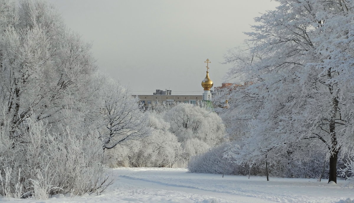
M 354 176 L 354 2 L 278 0 L 225 56 L 228 108 L 143 113 L 41 0 L 0 0 L 0 194 L 99 193 L 106 167 Z

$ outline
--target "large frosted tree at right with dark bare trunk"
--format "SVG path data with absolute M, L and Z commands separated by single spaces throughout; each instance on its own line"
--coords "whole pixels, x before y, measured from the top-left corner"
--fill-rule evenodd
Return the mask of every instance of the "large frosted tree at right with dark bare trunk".
M 315 146 L 336 182 L 338 154 L 354 143 L 354 2 L 277 1 L 247 33 L 249 54 L 226 56 L 235 64 L 229 77 L 253 84 L 230 94 L 225 111 L 247 122 L 241 152 L 249 160 L 275 163 Z

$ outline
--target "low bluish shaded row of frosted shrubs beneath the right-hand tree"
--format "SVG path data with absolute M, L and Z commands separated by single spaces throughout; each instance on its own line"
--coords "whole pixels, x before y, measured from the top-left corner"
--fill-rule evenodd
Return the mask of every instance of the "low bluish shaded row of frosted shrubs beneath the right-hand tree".
M 187 165 L 191 173 L 224 173 L 233 175 L 265 175 L 265 161 L 268 160 L 268 172 L 271 176 L 296 178 L 328 178 L 328 167 L 325 154 L 303 151 L 278 154 L 276 159 L 245 159 L 242 149 L 225 142 L 191 158 Z M 227 157 L 227 159 L 225 158 Z M 338 164 L 342 164 L 339 160 Z M 344 165 L 344 164 L 342 164 Z M 347 166 L 349 166 L 347 164 Z M 348 177 L 350 169 L 347 168 Z

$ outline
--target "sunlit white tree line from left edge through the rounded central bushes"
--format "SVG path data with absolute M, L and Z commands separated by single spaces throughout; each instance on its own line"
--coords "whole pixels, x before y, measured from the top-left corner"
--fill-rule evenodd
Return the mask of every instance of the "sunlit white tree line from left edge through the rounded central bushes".
M 0 0 L 1 195 L 100 193 L 107 167 L 172 167 L 224 139 L 205 108 L 143 113 L 90 49 L 46 1 Z

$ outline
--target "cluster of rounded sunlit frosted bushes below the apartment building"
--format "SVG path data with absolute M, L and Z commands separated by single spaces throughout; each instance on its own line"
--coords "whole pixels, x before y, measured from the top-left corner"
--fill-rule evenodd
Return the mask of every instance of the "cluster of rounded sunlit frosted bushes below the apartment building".
M 144 114 L 148 115 L 149 135 L 106 150 L 110 166 L 172 167 L 176 162 L 183 165 L 224 140 L 221 118 L 206 108 L 161 105 Z

